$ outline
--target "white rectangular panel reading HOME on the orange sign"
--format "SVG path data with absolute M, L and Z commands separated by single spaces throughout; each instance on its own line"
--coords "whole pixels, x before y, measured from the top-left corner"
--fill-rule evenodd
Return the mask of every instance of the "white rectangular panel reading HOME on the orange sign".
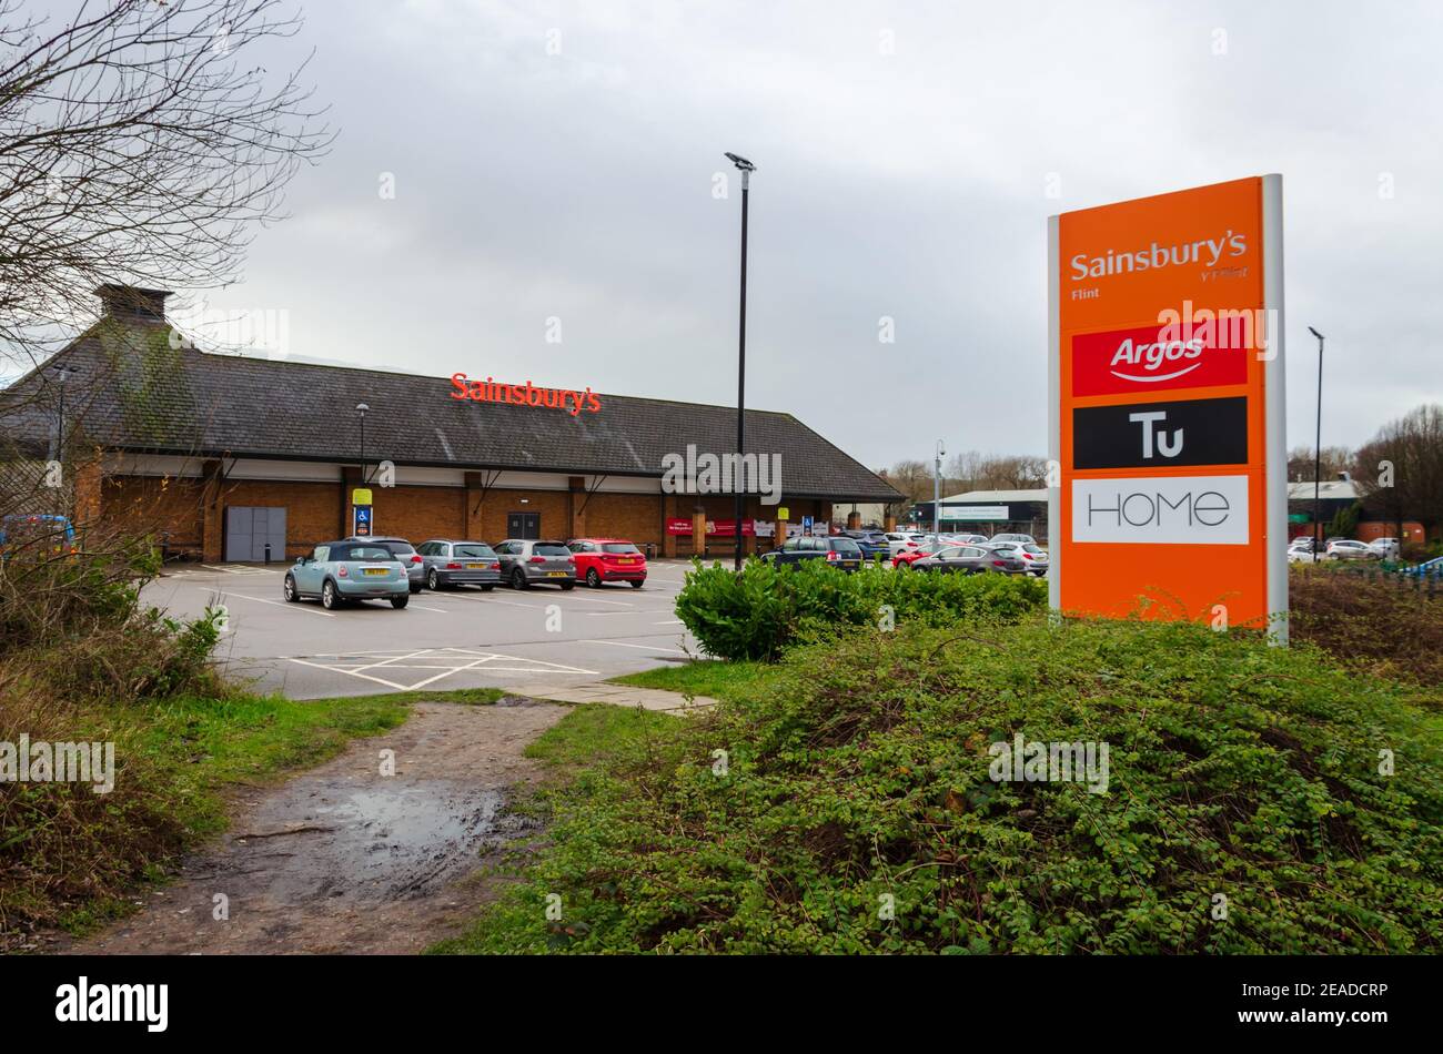
M 1072 480 L 1072 541 L 1247 545 L 1247 476 Z

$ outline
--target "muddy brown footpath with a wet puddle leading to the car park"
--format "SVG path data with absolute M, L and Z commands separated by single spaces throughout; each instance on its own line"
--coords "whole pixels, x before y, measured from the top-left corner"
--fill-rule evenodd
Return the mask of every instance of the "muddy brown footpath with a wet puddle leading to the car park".
M 537 779 L 521 751 L 563 714 L 518 698 L 417 704 L 400 728 L 241 794 L 229 833 L 186 861 L 177 881 L 65 950 L 420 952 L 496 894 L 499 882 L 478 872 L 488 854 L 525 833 L 525 820 L 504 810 L 506 790 Z M 394 776 L 381 774 L 384 750 L 395 751 Z

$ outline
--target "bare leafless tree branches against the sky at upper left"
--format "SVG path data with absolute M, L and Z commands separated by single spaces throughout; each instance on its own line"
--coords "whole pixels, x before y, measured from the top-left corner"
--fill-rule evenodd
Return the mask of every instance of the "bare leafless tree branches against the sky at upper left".
M 0 353 L 36 365 L 105 283 L 238 278 L 330 141 L 309 56 L 263 65 L 299 27 L 277 0 L 76 0 L 68 17 L 0 0 Z

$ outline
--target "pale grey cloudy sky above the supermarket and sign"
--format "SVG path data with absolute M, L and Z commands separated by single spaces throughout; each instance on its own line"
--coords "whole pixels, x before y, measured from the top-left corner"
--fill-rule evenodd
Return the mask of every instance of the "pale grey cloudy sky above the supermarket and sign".
M 747 402 L 873 467 L 937 437 L 1045 453 L 1051 213 L 1267 172 L 1290 446 L 1309 324 L 1325 444 L 1443 401 L 1437 4 L 304 10 L 341 136 L 208 301 L 284 311 L 294 356 L 732 404 L 733 150 L 759 167 Z

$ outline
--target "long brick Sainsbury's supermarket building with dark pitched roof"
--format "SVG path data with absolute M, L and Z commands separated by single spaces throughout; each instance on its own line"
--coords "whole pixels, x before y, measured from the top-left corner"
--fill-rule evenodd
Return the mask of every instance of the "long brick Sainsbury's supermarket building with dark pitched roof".
M 355 531 L 361 489 L 369 533 L 413 542 L 733 551 L 734 496 L 672 493 L 664 474 L 688 446 L 734 453 L 734 408 L 592 392 L 584 378 L 574 392 L 535 388 L 524 363 L 462 355 L 466 373 L 443 378 L 214 355 L 177 346 L 167 293 L 100 294 L 100 323 L 0 392 L 23 404 L 6 428 L 30 457 L 53 456 L 63 434 L 79 525 L 153 532 L 170 555 L 206 562 L 291 559 Z M 781 456 L 775 503 L 746 496 L 746 552 L 804 518 L 821 529 L 856 519 L 853 503 L 902 500 L 789 414 L 749 409 L 746 443 L 758 460 Z

